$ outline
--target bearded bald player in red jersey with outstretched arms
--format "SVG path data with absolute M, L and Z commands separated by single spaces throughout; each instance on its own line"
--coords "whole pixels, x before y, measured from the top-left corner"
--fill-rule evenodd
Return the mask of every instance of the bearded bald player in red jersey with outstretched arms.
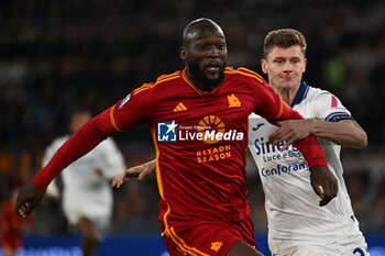
M 275 124 L 301 115 L 257 74 L 226 67 L 226 37 L 211 20 L 198 19 L 186 26 L 179 54 L 186 64 L 183 70 L 144 84 L 78 130 L 20 190 L 16 213 L 28 215 L 51 180 L 107 136 L 148 123 L 168 253 L 262 255 L 246 201 L 248 116 L 255 112 Z M 328 203 L 337 194 L 337 180 L 317 140 L 309 136 L 296 146 L 312 171 L 320 203 Z

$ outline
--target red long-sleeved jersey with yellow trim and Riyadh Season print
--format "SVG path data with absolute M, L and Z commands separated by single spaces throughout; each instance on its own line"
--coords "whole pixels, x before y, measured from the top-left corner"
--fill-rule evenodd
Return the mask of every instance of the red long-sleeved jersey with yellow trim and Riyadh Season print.
M 75 133 L 33 181 L 45 189 L 58 171 L 106 136 L 148 123 L 156 147 L 164 235 L 184 244 L 174 227 L 249 218 L 248 116 L 255 112 L 272 123 L 301 116 L 257 74 L 231 67 L 224 74 L 222 85 L 209 92 L 194 86 L 186 69 L 144 84 Z M 327 166 L 315 137 L 296 146 L 310 168 Z

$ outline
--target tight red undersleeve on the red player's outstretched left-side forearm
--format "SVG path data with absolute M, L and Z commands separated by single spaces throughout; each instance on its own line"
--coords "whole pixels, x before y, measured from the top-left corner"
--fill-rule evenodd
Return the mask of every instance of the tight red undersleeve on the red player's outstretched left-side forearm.
M 50 163 L 32 180 L 42 190 L 69 164 L 86 155 L 108 135 L 113 129 L 108 126 L 108 111 L 88 121 L 56 152 Z

